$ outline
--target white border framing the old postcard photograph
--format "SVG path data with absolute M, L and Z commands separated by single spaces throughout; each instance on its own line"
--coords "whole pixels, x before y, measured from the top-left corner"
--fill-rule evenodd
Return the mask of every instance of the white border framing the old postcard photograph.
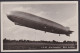
M 77 44 L 77 49 L 52 49 L 52 50 L 3 50 L 3 20 L 2 11 L 3 4 L 68 4 L 76 3 L 78 9 L 78 1 L 16 1 L 16 2 L 1 2 L 1 52 L 65 52 L 65 51 L 79 51 L 79 39 Z M 78 13 L 78 10 L 77 10 Z M 78 14 L 77 14 L 78 17 Z M 79 36 L 79 35 L 78 35 Z

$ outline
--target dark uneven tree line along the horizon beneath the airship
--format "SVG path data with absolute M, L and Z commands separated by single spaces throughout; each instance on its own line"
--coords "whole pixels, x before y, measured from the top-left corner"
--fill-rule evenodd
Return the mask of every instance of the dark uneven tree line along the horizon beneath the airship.
M 3 42 L 6 43 L 6 42 L 26 42 L 26 43 L 74 43 L 76 44 L 77 42 L 76 41 L 66 41 L 64 40 L 63 42 L 59 42 L 59 41 L 55 41 L 55 40 L 52 40 L 52 41 L 44 41 L 44 40 L 40 40 L 40 41 L 32 41 L 32 40 L 10 40 L 10 39 L 3 39 Z

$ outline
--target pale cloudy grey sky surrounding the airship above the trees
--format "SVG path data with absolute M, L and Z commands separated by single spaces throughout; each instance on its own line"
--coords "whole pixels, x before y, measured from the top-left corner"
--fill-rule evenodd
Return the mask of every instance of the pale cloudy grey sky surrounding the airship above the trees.
M 15 25 L 7 18 L 7 13 L 11 11 L 28 12 L 45 19 L 55 21 L 65 27 L 70 27 L 74 31 L 69 36 L 64 34 L 45 33 L 44 31 Z M 46 40 L 46 41 L 77 41 L 78 40 L 78 9 L 76 3 L 41 3 L 41 4 L 14 4 L 6 3 L 2 5 L 2 30 L 3 38 L 11 40 Z

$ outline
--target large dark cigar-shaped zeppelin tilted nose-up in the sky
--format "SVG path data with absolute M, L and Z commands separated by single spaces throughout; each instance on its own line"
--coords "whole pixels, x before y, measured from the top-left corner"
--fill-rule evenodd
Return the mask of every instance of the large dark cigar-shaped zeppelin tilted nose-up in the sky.
M 7 17 L 17 25 L 33 28 L 36 30 L 56 33 L 59 35 L 66 34 L 67 36 L 70 36 L 70 34 L 73 32 L 69 29 L 69 27 L 64 27 L 63 25 L 54 21 L 22 11 L 11 11 L 7 14 Z

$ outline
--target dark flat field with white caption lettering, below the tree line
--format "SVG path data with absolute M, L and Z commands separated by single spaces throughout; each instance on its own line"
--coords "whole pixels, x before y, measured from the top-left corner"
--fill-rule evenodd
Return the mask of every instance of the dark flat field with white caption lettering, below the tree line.
M 77 49 L 73 43 L 5 42 L 3 50 Z

